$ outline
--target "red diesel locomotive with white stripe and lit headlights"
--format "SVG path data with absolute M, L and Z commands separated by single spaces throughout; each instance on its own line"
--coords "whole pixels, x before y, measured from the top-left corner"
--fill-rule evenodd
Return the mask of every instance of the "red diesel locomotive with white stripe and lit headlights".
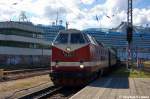
M 52 43 L 50 77 L 55 85 L 85 85 L 115 64 L 112 50 L 79 30 L 62 30 Z

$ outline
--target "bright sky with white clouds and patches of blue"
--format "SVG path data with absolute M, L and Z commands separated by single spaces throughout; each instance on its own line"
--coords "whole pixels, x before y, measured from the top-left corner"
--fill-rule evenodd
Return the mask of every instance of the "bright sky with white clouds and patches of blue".
M 150 0 L 133 0 L 133 7 L 133 23 L 150 24 Z M 17 21 L 21 11 L 34 24 L 52 24 L 58 12 L 69 28 L 112 28 L 126 21 L 127 0 L 0 0 L 0 21 Z

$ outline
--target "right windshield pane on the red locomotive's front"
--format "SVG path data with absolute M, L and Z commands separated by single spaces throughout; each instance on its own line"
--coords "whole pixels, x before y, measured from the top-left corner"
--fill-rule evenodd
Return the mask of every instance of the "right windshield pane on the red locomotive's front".
M 73 44 L 80 44 L 80 43 L 85 43 L 85 40 L 84 40 L 82 34 L 76 33 L 76 34 L 71 34 L 70 42 Z

